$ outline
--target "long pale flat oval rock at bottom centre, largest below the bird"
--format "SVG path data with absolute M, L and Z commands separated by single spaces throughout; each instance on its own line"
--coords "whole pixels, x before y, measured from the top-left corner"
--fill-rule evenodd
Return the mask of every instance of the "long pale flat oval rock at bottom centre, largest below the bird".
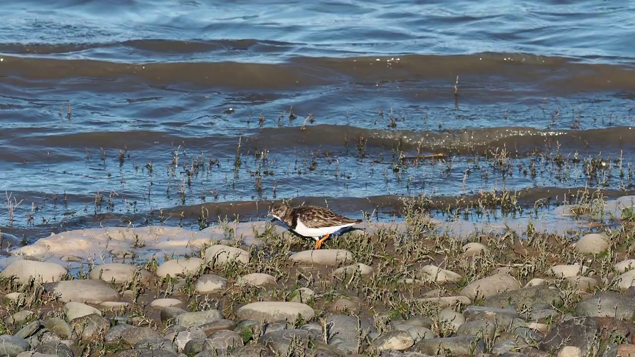
M 304 320 L 311 320 L 315 312 L 307 304 L 278 301 L 252 302 L 236 311 L 236 316 L 241 320 L 265 320 L 266 322 L 294 321 L 298 315 L 302 315 Z

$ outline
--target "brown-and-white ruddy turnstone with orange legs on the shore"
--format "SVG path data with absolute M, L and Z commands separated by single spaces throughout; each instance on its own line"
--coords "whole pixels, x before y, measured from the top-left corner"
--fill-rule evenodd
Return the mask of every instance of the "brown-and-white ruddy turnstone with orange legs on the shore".
M 316 240 L 315 249 L 331 234 L 346 227 L 361 223 L 361 219 L 350 219 L 319 206 L 297 206 L 291 208 L 286 202 L 271 207 L 269 215 L 281 220 L 291 231 Z

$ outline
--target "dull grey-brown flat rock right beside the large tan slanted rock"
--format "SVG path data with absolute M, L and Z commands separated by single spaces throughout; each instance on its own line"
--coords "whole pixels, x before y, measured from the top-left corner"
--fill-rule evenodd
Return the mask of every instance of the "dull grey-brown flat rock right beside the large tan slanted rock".
M 538 285 L 492 295 L 483 301 L 483 305 L 491 307 L 507 307 L 511 304 L 531 306 L 537 302 L 554 306 L 562 306 L 563 304 L 560 291 L 557 288 Z

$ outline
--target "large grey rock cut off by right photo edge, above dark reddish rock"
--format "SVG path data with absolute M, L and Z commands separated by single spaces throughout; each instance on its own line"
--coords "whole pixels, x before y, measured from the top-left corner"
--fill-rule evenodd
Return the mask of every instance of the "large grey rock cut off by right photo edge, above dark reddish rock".
M 617 292 L 600 292 L 575 306 L 578 316 L 609 316 L 623 320 L 635 317 L 635 297 L 622 296 Z

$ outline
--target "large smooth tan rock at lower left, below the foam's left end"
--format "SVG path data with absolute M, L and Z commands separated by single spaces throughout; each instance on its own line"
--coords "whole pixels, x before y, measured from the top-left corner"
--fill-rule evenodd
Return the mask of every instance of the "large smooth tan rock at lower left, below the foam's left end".
M 99 304 L 119 300 L 117 290 L 103 280 L 68 280 L 44 285 L 47 292 L 58 295 L 62 302 L 90 302 Z

